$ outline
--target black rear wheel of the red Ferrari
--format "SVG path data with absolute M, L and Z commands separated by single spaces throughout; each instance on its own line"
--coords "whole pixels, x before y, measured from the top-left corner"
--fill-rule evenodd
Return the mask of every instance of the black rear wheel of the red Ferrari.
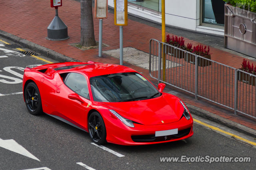
M 29 113 L 32 115 L 41 115 L 43 113 L 41 96 L 36 83 L 28 83 L 24 91 L 24 99 Z

